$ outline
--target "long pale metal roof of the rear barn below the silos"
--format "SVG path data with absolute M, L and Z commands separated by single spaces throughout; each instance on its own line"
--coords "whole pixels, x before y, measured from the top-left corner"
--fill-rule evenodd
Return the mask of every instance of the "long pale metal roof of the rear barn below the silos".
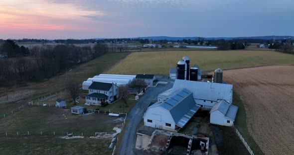
M 194 99 L 203 99 L 209 101 L 218 101 L 223 99 L 229 103 L 232 103 L 232 84 L 175 79 L 172 86 L 172 92 L 176 92 L 183 88 L 186 88 L 193 92 Z

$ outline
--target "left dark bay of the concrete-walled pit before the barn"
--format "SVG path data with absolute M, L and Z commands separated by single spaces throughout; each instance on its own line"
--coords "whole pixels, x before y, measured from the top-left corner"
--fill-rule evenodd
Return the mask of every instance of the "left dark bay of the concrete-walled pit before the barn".
M 163 155 L 186 155 L 189 140 L 182 136 L 172 136 L 169 146 Z

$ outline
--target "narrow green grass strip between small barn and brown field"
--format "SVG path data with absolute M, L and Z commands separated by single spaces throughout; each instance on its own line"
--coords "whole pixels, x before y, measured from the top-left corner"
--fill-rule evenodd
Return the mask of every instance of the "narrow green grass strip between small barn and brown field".
M 243 138 L 246 140 L 254 155 L 264 155 L 262 150 L 259 148 L 257 143 L 255 143 L 255 141 L 248 132 L 246 122 L 246 111 L 240 96 L 235 91 L 233 92 L 233 104 L 239 107 L 234 122 L 235 127 L 239 130 Z

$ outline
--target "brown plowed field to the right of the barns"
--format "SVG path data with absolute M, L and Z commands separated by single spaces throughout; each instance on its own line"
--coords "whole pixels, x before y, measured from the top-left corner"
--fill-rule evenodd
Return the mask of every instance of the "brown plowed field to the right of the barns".
M 247 127 L 266 155 L 294 155 L 294 66 L 224 72 L 244 102 Z

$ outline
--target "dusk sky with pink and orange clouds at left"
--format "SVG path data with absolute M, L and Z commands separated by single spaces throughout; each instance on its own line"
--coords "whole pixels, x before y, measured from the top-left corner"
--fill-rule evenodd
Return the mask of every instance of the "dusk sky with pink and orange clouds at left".
M 0 0 L 1 39 L 294 36 L 294 0 Z

